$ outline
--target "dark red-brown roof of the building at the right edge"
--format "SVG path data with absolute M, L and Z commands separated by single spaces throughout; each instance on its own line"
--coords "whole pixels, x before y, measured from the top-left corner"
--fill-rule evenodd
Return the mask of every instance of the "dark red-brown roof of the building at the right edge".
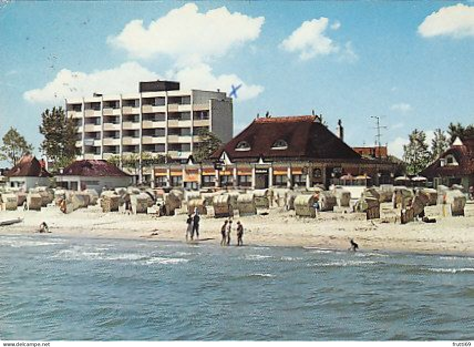
M 443 176 L 465 176 L 474 174 L 474 137 L 462 140 L 462 146 L 451 146 L 420 175 L 433 178 Z M 440 159 L 452 155 L 459 165 L 441 166 Z

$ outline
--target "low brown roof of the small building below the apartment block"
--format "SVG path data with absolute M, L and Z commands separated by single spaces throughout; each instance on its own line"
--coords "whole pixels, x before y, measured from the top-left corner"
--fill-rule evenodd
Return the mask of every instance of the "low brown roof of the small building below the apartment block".
M 129 175 L 105 160 L 76 160 L 58 176 L 128 177 Z

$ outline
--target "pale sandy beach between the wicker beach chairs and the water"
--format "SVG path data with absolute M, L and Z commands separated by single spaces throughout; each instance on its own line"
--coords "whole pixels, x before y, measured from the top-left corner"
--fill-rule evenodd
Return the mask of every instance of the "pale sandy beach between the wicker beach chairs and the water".
M 396 216 L 384 206 L 381 219 L 362 219 L 354 213 L 322 212 L 319 218 L 295 216 L 283 208 L 266 210 L 268 215 L 234 218 L 244 225 L 245 245 L 304 246 L 348 249 L 353 238 L 361 250 L 390 252 L 474 255 L 474 204 L 466 206 L 466 216 L 436 216 L 436 206 L 427 207 L 427 215 L 437 223 L 412 222 L 401 225 L 388 221 Z M 263 212 L 263 211 L 259 211 Z M 99 206 L 89 206 L 65 215 L 57 206 L 37 211 L 1 211 L 0 221 L 23 218 L 23 222 L 0 226 L 0 234 L 34 233 L 41 222 L 55 235 L 142 239 L 150 241 L 185 240 L 186 215 L 157 217 L 128 215 L 123 212 L 102 213 Z M 220 227 L 224 218 L 201 216 L 200 238 L 206 243 L 220 244 Z M 231 235 L 236 244 L 237 234 Z

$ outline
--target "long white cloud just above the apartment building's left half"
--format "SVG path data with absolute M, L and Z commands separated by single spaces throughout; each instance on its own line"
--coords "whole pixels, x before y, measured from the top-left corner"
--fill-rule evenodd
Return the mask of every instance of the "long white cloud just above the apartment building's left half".
M 91 74 L 63 69 L 43 88 L 28 90 L 23 97 L 31 103 L 57 103 L 64 98 L 82 97 L 92 93 L 120 94 L 138 91 L 138 82 L 156 80 L 160 76 L 135 62 Z

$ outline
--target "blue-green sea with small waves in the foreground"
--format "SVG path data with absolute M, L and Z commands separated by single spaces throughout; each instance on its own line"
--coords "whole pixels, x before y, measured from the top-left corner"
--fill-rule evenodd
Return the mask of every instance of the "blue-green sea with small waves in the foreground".
M 0 339 L 474 339 L 473 257 L 218 243 L 2 232 Z

